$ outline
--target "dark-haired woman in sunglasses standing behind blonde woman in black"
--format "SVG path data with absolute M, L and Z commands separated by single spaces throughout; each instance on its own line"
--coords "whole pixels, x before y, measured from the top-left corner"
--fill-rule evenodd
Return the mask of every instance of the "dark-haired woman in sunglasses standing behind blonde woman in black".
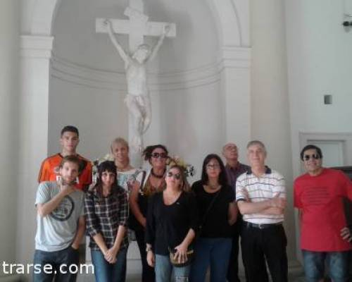
M 139 252 L 142 259 L 142 282 L 155 281 L 154 269 L 146 262 L 146 243 L 144 240 L 146 228 L 146 212 L 149 197 L 156 192 L 165 190 L 166 160 L 168 149 L 164 145 L 152 145 L 146 147 L 143 152 L 144 160 L 149 161 L 151 169 L 144 173 L 141 185 L 134 185 L 130 195 L 131 216 L 130 226 L 136 235 Z

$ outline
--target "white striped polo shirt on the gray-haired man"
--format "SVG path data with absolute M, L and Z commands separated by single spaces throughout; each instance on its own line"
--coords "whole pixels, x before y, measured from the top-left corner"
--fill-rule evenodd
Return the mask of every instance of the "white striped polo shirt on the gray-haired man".
M 270 200 L 280 192 L 279 197 L 286 198 L 286 188 L 284 177 L 277 171 L 273 171 L 268 166 L 265 173 L 257 177 L 251 169 L 241 174 L 236 182 L 236 202 L 247 201 L 262 202 Z M 284 221 L 283 214 L 244 214 L 244 221 L 256 224 L 279 223 Z

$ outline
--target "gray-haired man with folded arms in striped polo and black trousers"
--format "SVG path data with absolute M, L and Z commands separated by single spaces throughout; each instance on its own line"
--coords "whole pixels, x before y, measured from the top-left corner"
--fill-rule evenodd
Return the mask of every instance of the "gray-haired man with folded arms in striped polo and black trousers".
M 247 145 L 251 169 L 236 183 L 236 201 L 243 214 L 241 250 L 248 274 L 247 282 L 266 282 L 268 263 L 273 282 L 287 281 L 287 238 L 282 222 L 286 207 L 284 177 L 265 166 L 263 142 Z

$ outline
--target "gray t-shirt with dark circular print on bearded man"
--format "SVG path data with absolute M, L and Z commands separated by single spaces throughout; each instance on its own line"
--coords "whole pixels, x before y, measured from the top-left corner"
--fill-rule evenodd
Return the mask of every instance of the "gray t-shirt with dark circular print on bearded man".
M 37 190 L 35 204 L 49 202 L 60 192 L 56 182 L 42 182 Z M 58 207 L 42 217 L 37 214 L 35 249 L 55 252 L 73 243 L 80 216 L 84 216 L 84 193 L 80 190 L 65 196 Z

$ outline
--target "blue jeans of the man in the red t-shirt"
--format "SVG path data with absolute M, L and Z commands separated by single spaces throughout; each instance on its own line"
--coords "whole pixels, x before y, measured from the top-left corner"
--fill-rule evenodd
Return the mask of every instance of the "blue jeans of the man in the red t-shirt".
M 311 252 L 302 250 L 307 282 L 317 282 L 324 277 L 325 260 L 329 276 L 334 282 L 348 280 L 348 251 Z

